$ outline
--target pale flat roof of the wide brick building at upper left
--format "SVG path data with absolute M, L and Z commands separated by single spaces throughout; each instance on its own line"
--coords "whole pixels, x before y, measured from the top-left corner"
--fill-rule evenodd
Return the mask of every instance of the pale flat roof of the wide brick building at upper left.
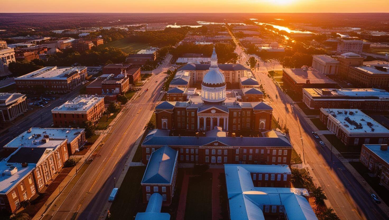
M 43 67 L 26 75 L 16 77 L 18 79 L 67 79 L 74 72 L 80 72 L 86 67 Z

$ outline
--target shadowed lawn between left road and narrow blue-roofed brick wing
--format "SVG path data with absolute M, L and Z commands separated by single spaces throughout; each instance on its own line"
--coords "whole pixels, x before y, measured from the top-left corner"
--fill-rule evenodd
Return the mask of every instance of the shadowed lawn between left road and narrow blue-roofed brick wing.
M 109 209 L 110 219 L 133 219 L 138 212 L 144 212 L 147 204 L 142 201 L 142 181 L 146 167 L 130 167 Z

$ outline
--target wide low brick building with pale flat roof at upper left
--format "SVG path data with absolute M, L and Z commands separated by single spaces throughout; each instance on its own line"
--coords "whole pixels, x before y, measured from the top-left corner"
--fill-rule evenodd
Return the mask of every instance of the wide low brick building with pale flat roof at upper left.
M 15 78 L 16 90 L 66 93 L 84 83 L 86 67 L 43 67 Z

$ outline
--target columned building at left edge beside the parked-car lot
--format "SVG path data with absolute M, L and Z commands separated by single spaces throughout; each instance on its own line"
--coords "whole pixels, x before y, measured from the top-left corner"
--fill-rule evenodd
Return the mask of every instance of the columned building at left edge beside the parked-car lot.
M 3 121 L 12 121 L 28 111 L 26 95 L 21 93 L 0 93 L 0 112 Z

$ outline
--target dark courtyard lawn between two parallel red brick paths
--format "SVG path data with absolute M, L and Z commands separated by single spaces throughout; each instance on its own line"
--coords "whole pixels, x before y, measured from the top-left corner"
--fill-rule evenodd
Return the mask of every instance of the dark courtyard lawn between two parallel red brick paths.
M 189 178 L 184 219 L 212 219 L 212 173 Z

